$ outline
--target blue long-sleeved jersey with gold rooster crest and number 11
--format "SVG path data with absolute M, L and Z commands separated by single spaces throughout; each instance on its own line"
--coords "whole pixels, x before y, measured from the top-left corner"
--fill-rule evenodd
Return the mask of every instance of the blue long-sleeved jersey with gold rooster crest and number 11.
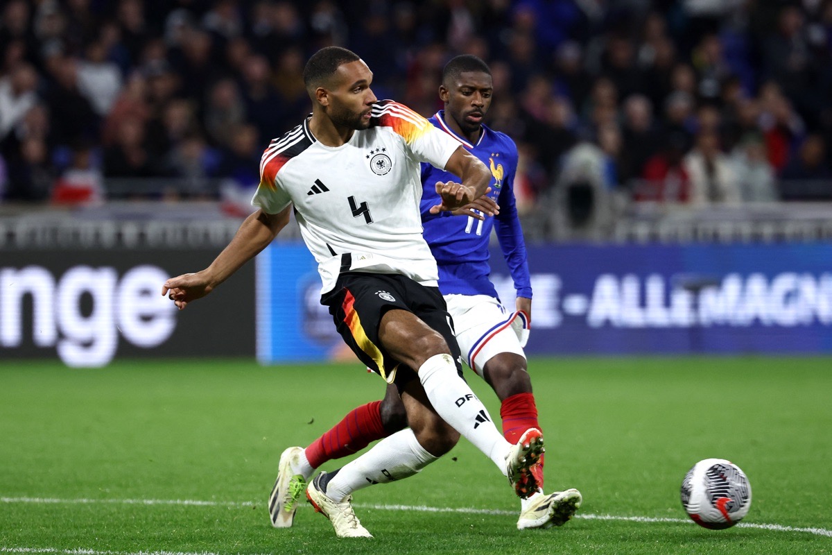
M 460 141 L 473 156 L 491 169 L 491 196 L 500 206 L 498 216 L 486 216 L 484 221 L 471 216 L 451 216 L 450 212 L 431 214 L 431 206 L 439 204 L 436 193 L 438 181 L 459 181 L 448 171 L 422 164 L 422 225 L 424 239 L 439 268 L 439 290 L 443 295 L 490 295 L 497 297 L 494 285 L 488 280 L 488 241 L 495 230 L 514 280 L 517 295 L 532 298 L 529 280 L 526 243 L 514 201 L 514 174 L 518 166 L 518 149 L 507 135 L 483 126 L 479 141 L 471 144 L 454 133 L 438 111 L 429 121 Z

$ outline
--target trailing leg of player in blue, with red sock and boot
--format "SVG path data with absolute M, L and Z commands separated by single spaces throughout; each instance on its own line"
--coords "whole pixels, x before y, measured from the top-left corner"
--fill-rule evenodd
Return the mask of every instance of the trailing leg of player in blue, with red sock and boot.
M 344 416 L 308 447 L 290 447 L 280 455 L 269 516 L 275 528 L 289 528 L 314 471 L 329 460 L 358 453 L 370 443 L 406 428 L 407 414 L 399 389 L 388 384 L 384 399 L 363 404 Z

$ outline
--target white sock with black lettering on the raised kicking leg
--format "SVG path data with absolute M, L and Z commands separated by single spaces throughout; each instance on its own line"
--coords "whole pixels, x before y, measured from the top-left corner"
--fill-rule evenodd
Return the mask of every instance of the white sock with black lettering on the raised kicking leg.
M 503 475 L 511 444 L 498 432 L 485 405 L 459 377 L 450 354 L 435 354 L 418 369 L 418 379 L 442 419 L 490 458 Z

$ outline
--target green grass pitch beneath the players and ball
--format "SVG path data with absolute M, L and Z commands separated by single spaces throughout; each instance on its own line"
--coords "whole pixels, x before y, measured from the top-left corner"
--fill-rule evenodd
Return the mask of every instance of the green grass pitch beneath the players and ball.
M 508 483 L 463 439 L 418 476 L 355 493 L 375 538 L 339 540 L 306 503 L 294 528 L 271 528 L 265 503 L 285 447 L 384 393 L 359 364 L 4 360 L 0 553 L 832 553 L 832 359 L 530 369 L 547 491 L 581 489 L 577 518 L 519 532 Z M 709 457 L 750 479 L 750 514 L 735 528 L 699 528 L 682 512 L 681 479 Z

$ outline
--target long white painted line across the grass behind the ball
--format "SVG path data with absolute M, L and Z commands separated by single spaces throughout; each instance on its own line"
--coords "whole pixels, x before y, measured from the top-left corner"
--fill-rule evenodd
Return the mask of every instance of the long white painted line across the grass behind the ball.
M 0 497 L 0 503 L 42 503 L 42 504 L 94 504 L 94 503 L 110 503 L 122 505 L 185 505 L 196 507 L 252 507 L 257 505 L 253 501 L 199 501 L 195 499 L 92 499 L 92 498 L 75 498 L 75 499 L 60 499 L 60 498 L 6 498 Z M 306 507 L 306 505 L 301 505 Z M 463 513 L 463 514 L 490 514 L 490 515 L 514 515 L 516 511 L 507 511 L 498 508 L 451 508 L 451 507 L 428 507 L 427 505 L 384 505 L 372 503 L 354 503 L 357 508 L 373 508 L 384 511 L 409 511 L 417 513 Z M 693 524 L 693 521 L 686 518 L 656 518 L 656 517 L 622 517 L 613 514 L 592 514 L 592 513 L 578 513 L 575 518 L 585 518 L 587 520 L 614 520 L 619 522 L 632 523 L 680 523 Z M 754 528 L 758 530 L 773 530 L 775 532 L 800 532 L 810 533 L 815 536 L 825 536 L 832 538 L 832 530 L 826 528 L 798 528 L 794 526 L 782 526 L 780 524 L 765 524 L 765 523 L 738 523 L 737 528 Z M 119 553 L 119 552 L 97 552 L 86 550 L 52 550 L 52 551 L 19 551 L 13 552 L 12 549 L 27 549 L 27 548 L 3 548 L 0 546 L 0 553 L 67 553 L 68 555 L 215 555 L 215 553 L 167 553 L 167 552 L 139 552 L 139 553 Z

